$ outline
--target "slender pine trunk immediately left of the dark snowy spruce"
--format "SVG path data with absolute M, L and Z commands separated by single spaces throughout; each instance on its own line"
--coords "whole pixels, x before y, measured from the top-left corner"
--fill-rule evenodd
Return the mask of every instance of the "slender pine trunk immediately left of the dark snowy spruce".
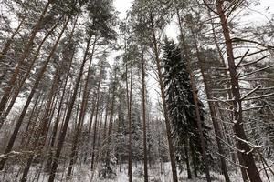
M 169 147 L 169 156 L 170 156 L 170 160 L 171 160 L 173 180 L 174 180 L 174 182 L 177 182 L 178 177 L 177 177 L 177 169 L 176 169 L 175 156 L 174 156 L 174 145 L 172 142 L 171 126 L 170 126 L 170 119 L 168 116 L 167 104 L 165 102 L 165 97 L 164 97 L 163 74 L 162 74 L 161 60 L 160 60 L 159 50 L 158 50 L 158 43 L 157 43 L 156 35 L 154 32 L 155 27 L 154 27 L 153 15 L 151 15 L 151 25 L 152 25 L 151 28 L 152 28 L 152 35 L 153 35 L 153 50 L 154 50 L 155 61 L 156 61 L 156 66 L 157 66 L 158 82 L 159 82 L 160 90 L 161 90 L 161 97 L 162 97 L 162 104 L 163 104 L 163 116 L 164 116 L 165 127 L 166 127 L 166 135 L 167 135 L 167 141 L 168 141 L 168 147 Z

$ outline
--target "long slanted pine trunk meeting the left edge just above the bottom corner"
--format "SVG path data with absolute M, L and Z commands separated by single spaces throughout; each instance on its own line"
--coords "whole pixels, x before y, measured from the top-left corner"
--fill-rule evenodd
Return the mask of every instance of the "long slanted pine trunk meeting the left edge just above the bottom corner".
M 52 47 L 49 55 L 47 56 L 47 60 L 45 61 L 43 67 L 41 68 L 41 70 L 38 73 L 37 80 L 35 81 L 35 84 L 34 84 L 33 88 L 31 89 L 31 92 L 30 92 L 29 96 L 27 97 L 26 104 L 25 104 L 25 106 L 24 106 L 24 108 L 23 108 L 23 110 L 22 110 L 22 112 L 21 112 L 21 114 L 20 114 L 20 116 L 19 116 L 19 118 L 18 118 L 18 120 L 16 122 L 16 126 L 15 126 L 15 129 L 13 131 L 13 134 L 12 134 L 11 138 L 9 139 L 7 146 L 5 147 L 5 152 L 4 152 L 5 155 L 7 153 L 11 152 L 12 147 L 14 146 L 14 143 L 16 141 L 16 136 L 17 136 L 18 131 L 19 131 L 19 129 L 20 129 L 22 123 L 23 123 L 24 117 L 26 116 L 26 110 L 27 110 L 27 108 L 28 108 L 28 106 L 29 106 L 29 104 L 30 104 L 30 102 L 32 100 L 32 97 L 34 96 L 34 94 L 35 94 L 35 92 L 37 90 L 37 86 L 39 85 L 42 77 L 44 76 L 45 72 L 47 71 L 47 65 L 48 65 L 51 57 L 55 53 L 55 50 L 56 50 L 56 48 L 58 46 L 58 42 L 59 42 L 61 36 L 63 35 L 65 29 L 67 28 L 68 21 L 69 21 L 69 19 L 66 21 L 64 27 L 62 28 L 61 33 L 58 35 L 58 39 L 56 40 L 55 45 L 53 45 L 53 47 Z M 0 161 L 0 170 L 3 170 L 3 168 L 5 167 L 5 161 L 6 160 L 7 160 L 7 158 L 4 157 Z

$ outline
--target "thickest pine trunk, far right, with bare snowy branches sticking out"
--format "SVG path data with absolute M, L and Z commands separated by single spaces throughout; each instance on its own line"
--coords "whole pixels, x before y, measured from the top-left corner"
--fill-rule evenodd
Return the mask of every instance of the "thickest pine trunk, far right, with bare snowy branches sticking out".
M 256 167 L 255 160 L 253 158 L 252 148 L 248 146 L 247 136 L 243 127 L 243 116 L 242 116 L 242 100 L 239 91 L 239 83 L 237 76 L 237 66 L 235 65 L 233 45 L 230 38 L 229 28 L 227 25 L 227 16 L 225 15 L 225 10 L 223 8 L 223 1 L 216 0 L 216 11 L 220 18 L 223 35 L 226 41 L 227 48 L 227 61 L 228 70 L 231 79 L 232 95 L 233 95 L 233 114 L 234 114 L 234 132 L 237 137 L 237 149 L 241 152 L 242 161 L 239 157 L 240 165 L 247 167 L 248 177 L 251 182 L 261 182 L 259 177 L 258 168 Z M 246 180 L 244 178 L 244 180 Z

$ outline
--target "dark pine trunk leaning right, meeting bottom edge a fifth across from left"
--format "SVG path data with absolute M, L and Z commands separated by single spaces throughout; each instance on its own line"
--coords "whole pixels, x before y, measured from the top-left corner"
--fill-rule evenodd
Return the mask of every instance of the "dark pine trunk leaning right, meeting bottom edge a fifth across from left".
M 54 178 L 56 176 L 56 172 L 57 172 L 57 168 L 58 168 L 58 160 L 59 160 L 59 157 L 61 155 L 61 150 L 63 148 L 65 137 L 66 137 L 67 130 L 68 130 L 68 122 L 70 120 L 70 116 L 72 114 L 72 109 L 73 109 L 73 106 L 74 106 L 74 102 L 75 102 L 76 97 L 77 97 L 79 83 L 80 83 L 81 77 L 82 77 L 83 72 L 84 72 L 84 66 L 85 66 L 85 63 L 87 62 L 87 56 L 88 56 L 89 48 L 90 48 L 90 41 L 91 41 L 91 35 L 90 35 L 90 37 L 88 39 L 88 42 L 87 42 L 87 47 L 86 47 L 85 54 L 84 54 L 84 57 L 83 57 L 83 60 L 82 60 L 82 64 L 81 64 L 80 69 L 79 69 L 79 75 L 76 79 L 76 83 L 75 83 L 75 87 L 73 89 L 72 97 L 71 97 L 71 99 L 68 103 L 68 112 L 66 114 L 64 126 L 62 127 L 62 131 L 60 132 L 60 135 L 58 137 L 58 145 L 57 145 L 55 157 L 53 158 L 53 161 L 52 161 L 52 166 L 50 168 L 48 182 L 53 182 Z M 95 42 L 94 42 L 94 44 L 95 44 Z

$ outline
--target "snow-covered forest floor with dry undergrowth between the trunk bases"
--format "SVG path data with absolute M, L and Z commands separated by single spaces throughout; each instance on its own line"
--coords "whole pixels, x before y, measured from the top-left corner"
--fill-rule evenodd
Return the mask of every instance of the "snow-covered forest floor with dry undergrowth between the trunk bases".
M 274 169 L 274 168 L 272 168 Z M 1 182 L 17 182 L 20 181 L 19 174 L 22 168 L 13 167 L 10 168 L 8 171 L 4 171 L 0 173 L 0 181 Z M 73 177 L 68 179 L 66 178 L 67 167 L 59 167 L 58 168 L 58 175 L 56 177 L 57 182 L 128 182 L 127 176 L 127 166 L 124 165 L 121 167 L 117 167 L 116 169 L 116 176 L 113 178 L 101 178 L 99 177 L 98 173 L 90 173 L 90 165 L 82 165 L 78 166 L 74 169 Z M 225 182 L 224 177 L 216 172 L 211 171 L 212 182 Z M 274 181 L 274 176 L 271 175 L 269 172 L 269 179 L 265 175 L 265 171 L 260 171 L 261 177 L 263 182 L 272 182 Z M 229 177 L 231 182 L 240 182 L 241 175 L 239 171 L 230 171 Z M 31 167 L 29 178 L 27 181 L 29 182 L 47 182 L 48 174 L 43 172 L 39 166 Z M 133 182 L 142 182 L 143 175 L 142 175 L 142 164 L 132 166 L 132 181 Z M 172 172 L 168 163 L 164 164 L 162 167 L 162 173 L 160 167 L 151 167 L 149 170 L 149 181 L 150 182 L 172 182 Z M 187 179 L 186 171 L 184 170 L 179 175 L 179 181 L 184 182 L 205 182 L 205 176 L 200 176 L 194 179 Z

